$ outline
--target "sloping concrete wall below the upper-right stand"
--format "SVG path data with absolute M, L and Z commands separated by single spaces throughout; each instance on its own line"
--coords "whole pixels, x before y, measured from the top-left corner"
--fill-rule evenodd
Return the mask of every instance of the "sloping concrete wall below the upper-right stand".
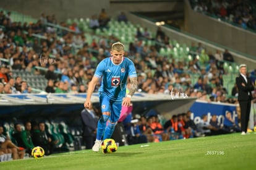
M 185 28 L 187 32 L 194 35 L 256 56 L 256 33 L 195 12 L 190 8 L 188 0 L 185 1 Z

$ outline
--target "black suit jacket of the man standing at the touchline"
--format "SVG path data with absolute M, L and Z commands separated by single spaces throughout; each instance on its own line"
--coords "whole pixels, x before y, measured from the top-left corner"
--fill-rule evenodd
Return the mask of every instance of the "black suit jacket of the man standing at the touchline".
M 236 77 L 236 85 L 238 88 L 238 101 L 247 101 L 252 100 L 252 91 L 254 90 L 254 85 L 252 84 L 252 80 L 247 78 L 247 83 L 244 80 L 244 77 L 240 74 L 239 77 Z M 242 86 L 242 83 L 245 84 L 245 87 Z M 249 92 L 249 94 L 248 94 Z

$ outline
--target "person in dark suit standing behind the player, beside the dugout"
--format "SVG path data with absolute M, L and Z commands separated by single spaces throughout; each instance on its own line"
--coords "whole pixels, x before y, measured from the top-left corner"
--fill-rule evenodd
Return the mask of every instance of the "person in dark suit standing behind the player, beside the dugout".
M 85 108 L 81 112 L 82 124 L 83 124 L 83 141 L 85 142 L 85 149 L 92 149 L 94 141 L 96 139 L 96 129 L 98 116 L 96 113 L 98 110 L 90 108 Z

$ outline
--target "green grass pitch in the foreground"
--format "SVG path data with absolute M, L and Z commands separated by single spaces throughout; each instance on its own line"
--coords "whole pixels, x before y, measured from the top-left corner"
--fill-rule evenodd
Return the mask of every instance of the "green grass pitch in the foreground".
M 256 169 L 256 134 L 229 134 L 0 163 L 0 169 Z

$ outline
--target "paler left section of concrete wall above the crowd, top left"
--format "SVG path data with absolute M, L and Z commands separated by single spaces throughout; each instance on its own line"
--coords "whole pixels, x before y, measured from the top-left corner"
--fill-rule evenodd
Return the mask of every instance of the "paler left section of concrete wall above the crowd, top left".
M 67 18 L 85 18 L 100 14 L 101 8 L 107 11 L 109 1 L 97 0 L 97 3 L 93 3 L 90 0 L 1 0 L 0 7 L 35 18 L 40 18 L 42 12 L 46 15 L 55 14 L 56 19 L 63 21 Z

